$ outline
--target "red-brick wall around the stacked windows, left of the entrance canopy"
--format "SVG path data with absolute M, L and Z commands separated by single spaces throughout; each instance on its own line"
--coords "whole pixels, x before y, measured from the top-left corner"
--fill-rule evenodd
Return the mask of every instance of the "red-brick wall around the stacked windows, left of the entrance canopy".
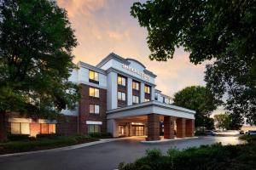
M 98 88 L 100 92 L 100 97 L 90 97 L 89 96 L 89 85 L 82 85 L 82 96 L 79 101 L 79 133 L 87 133 L 86 121 L 98 121 L 102 122 L 102 132 L 107 131 L 107 90 L 103 88 Z M 95 87 L 91 87 L 95 88 Z M 91 114 L 89 105 L 100 105 L 99 114 Z

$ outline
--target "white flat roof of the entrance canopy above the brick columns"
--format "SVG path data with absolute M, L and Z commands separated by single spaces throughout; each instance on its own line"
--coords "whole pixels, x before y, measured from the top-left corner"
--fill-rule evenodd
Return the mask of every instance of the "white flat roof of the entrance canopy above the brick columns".
M 127 116 L 143 116 L 152 113 L 163 116 L 175 116 L 187 119 L 195 119 L 195 111 L 185 109 L 176 105 L 166 105 L 158 101 L 149 101 L 137 105 L 129 105 L 127 107 L 107 111 L 107 119 L 118 119 Z

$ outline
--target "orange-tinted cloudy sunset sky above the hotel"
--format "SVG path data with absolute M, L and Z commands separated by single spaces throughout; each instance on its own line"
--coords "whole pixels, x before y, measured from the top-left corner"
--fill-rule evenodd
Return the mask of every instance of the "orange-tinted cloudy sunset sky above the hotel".
M 174 59 L 151 61 L 147 31 L 131 14 L 131 0 L 57 0 L 67 10 L 79 45 L 73 49 L 74 63 L 79 60 L 96 65 L 111 52 L 137 59 L 157 75 L 155 83 L 163 94 L 173 96 L 192 85 L 205 85 L 206 63 L 189 63 L 189 54 L 176 50 Z

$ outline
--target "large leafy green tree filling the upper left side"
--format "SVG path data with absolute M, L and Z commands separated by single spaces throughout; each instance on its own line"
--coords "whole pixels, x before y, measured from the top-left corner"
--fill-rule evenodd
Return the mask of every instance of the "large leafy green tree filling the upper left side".
M 49 0 L 0 3 L 0 111 L 53 117 L 73 108 L 77 45 L 67 12 Z

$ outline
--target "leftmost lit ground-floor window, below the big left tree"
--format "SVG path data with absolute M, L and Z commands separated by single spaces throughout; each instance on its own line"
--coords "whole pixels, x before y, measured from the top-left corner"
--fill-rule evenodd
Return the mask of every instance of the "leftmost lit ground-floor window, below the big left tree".
M 12 134 L 30 134 L 30 127 L 28 122 L 12 122 Z

